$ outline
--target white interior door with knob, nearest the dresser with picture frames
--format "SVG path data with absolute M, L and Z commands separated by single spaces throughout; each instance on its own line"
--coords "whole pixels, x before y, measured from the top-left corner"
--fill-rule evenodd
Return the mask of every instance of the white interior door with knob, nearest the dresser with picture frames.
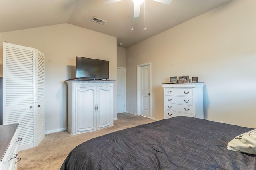
M 140 67 L 140 115 L 150 117 L 150 67 Z

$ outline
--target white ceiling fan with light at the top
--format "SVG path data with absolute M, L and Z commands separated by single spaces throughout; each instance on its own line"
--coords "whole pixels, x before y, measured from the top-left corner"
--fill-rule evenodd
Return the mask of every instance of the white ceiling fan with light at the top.
M 119 2 L 121 0 L 108 0 L 108 1 L 105 1 L 104 4 L 105 5 L 109 5 L 109 4 L 113 4 L 115 2 Z M 144 2 L 144 0 L 132 0 L 134 2 L 134 18 L 140 16 L 140 4 L 142 4 L 142 2 Z M 167 4 L 167 5 L 170 5 L 170 3 L 172 2 L 172 0 L 153 0 L 153 1 L 156 1 L 156 2 L 160 2 L 160 3 L 163 3 L 163 4 Z

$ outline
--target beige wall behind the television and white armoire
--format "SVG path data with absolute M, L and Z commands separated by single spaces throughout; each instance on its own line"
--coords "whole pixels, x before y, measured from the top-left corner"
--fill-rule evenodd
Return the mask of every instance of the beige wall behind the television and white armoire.
M 70 24 L 58 24 L 2 32 L 1 51 L 4 41 L 33 47 L 45 54 L 46 133 L 64 130 L 67 127 L 65 80 L 76 77 L 76 56 L 109 60 L 110 79 L 116 80 L 115 37 Z M 0 61 L 2 63 L 2 52 Z M 114 85 L 114 118 L 116 118 L 116 83 Z

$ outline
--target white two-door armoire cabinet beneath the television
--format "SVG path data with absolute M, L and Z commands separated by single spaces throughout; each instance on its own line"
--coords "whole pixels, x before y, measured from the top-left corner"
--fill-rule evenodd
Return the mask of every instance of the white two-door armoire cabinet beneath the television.
M 66 82 L 70 134 L 113 126 L 114 81 L 68 80 Z

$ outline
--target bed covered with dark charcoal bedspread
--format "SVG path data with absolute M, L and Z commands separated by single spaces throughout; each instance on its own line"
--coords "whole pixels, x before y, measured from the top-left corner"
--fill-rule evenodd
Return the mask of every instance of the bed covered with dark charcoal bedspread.
M 76 146 L 61 170 L 255 170 L 256 155 L 227 144 L 253 130 L 173 117 L 93 138 Z

